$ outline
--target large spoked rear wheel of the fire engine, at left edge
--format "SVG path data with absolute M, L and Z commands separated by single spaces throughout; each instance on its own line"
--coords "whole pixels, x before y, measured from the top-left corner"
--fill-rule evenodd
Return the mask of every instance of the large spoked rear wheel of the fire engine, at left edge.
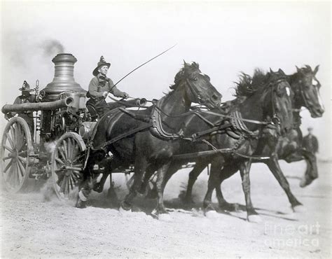
M 34 153 L 32 138 L 27 122 L 15 117 L 9 120 L 2 135 L 1 172 L 9 193 L 22 190 L 29 178 L 29 160 Z

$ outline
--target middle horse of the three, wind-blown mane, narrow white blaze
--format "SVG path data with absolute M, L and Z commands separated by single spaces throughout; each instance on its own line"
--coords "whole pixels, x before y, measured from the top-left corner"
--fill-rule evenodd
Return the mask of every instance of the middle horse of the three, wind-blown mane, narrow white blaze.
M 251 83 L 253 80 L 256 82 Z M 209 190 L 203 204 L 203 208 L 207 212 L 211 209 L 211 194 L 215 187 L 214 184 L 219 182 L 215 177 L 218 177 L 220 169 L 227 164 L 228 160 L 236 158 L 240 162 L 245 161 L 243 156 L 254 153 L 259 138 L 264 137 L 265 141 L 273 147 L 276 142 L 277 128 L 280 132 L 291 129 L 292 112 L 289 97 L 291 91 L 283 71 L 279 70 L 277 73 L 271 71 L 267 74 L 257 72 L 253 80 L 249 76 L 243 75 L 237 86 L 237 99 L 228 102 L 227 108 L 223 107 L 222 111 L 217 109 L 216 112 L 219 111 L 219 113 L 200 111 L 199 116 L 193 114 L 188 118 L 184 135 L 200 136 L 200 138 L 195 142 L 186 141 L 186 139 L 182 141 L 177 157 L 185 154 L 182 155 L 185 159 L 173 160 L 167 172 L 158 172 L 158 178 L 164 180 L 158 182 L 157 179 L 157 191 L 163 192 L 167 181 L 184 163 L 196 162 L 196 167 L 201 169 L 211 163 Z M 280 126 L 275 127 L 272 119 L 273 121 L 278 119 Z M 210 148 L 213 148 L 215 152 L 209 152 Z M 211 155 L 196 158 L 197 155 L 200 156 L 204 152 Z M 193 153 L 193 158 L 188 158 L 186 153 Z M 164 174 L 164 176 L 159 177 L 160 174 Z M 144 179 L 144 186 L 146 186 L 148 178 L 149 176 L 146 176 Z M 158 190 L 158 185 L 162 190 Z

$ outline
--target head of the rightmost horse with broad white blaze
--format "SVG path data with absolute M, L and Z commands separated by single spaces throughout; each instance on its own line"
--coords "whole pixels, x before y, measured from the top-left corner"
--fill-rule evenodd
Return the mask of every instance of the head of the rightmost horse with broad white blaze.
M 314 71 L 305 65 L 303 68 L 296 66 L 297 72 L 291 76 L 291 87 L 295 92 L 295 106 L 300 108 L 305 106 L 310 111 L 312 118 L 321 117 L 324 113 L 324 105 L 319 96 L 321 84 L 316 78 L 319 66 Z

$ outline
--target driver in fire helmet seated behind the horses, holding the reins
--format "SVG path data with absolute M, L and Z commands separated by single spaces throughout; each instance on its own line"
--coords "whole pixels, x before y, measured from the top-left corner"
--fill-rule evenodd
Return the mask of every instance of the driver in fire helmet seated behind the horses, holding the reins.
M 100 61 L 97 67 L 92 72 L 94 78 L 90 81 L 89 91 L 87 97 L 90 98 L 86 102 L 86 106 L 90 113 L 92 120 L 100 118 L 109 108 L 106 104 L 106 97 L 109 94 L 113 94 L 115 97 L 127 98 L 128 94 L 126 92 L 121 92 L 113 84 L 110 78 L 106 77 L 106 73 L 109 71 L 110 63 L 105 62 L 104 57 L 100 57 Z

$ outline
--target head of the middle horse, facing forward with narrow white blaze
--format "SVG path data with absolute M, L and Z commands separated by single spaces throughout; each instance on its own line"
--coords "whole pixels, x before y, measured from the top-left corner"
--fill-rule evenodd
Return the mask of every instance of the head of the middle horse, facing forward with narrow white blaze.
M 291 130 L 293 126 L 293 112 L 291 105 L 291 87 L 286 80 L 284 71 L 270 70 L 268 73 L 268 89 L 263 99 L 265 117 L 272 118 L 273 123 L 280 126 L 281 133 Z

